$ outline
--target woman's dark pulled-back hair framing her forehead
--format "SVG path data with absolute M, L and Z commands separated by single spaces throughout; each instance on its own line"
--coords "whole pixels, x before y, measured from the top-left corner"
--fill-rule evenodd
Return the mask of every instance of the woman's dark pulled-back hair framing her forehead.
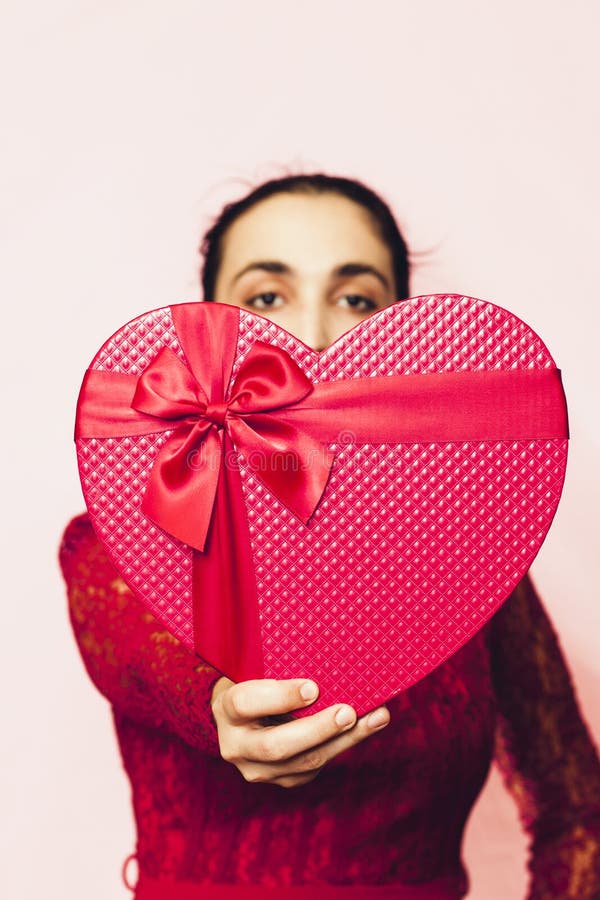
M 354 200 L 366 209 L 373 219 L 381 238 L 392 255 L 394 281 L 396 282 L 396 298 L 402 300 L 409 296 L 409 261 L 408 248 L 400 233 L 398 224 L 389 206 L 374 191 L 360 181 L 352 178 L 341 178 L 325 175 L 322 172 L 310 175 L 288 175 L 274 178 L 258 185 L 240 200 L 226 204 L 221 214 L 208 229 L 200 244 L 200 253 L 204 258 L 200 280 L 205 300 L 214 300 L 215 282 L 222 259 L 223 235 L 229 226 L 260 200 L 280 193 L 323 194 L 335 193 Z

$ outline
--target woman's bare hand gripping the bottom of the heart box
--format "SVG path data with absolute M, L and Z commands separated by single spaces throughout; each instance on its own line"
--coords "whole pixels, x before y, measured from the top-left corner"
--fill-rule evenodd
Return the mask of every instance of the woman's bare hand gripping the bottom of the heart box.
M 317 777 L 331 759 L 384 728 L 389 710 L 380 706 L 357 719 L 347 704 L 335 704 L 312 716 L 267 724 L 309 706 L 318 697 L 314 681 L 272 678 L 235 684 L 219 678 L 212 693 L 212 711 L 221 756 L 252 783 L 297 787 Z

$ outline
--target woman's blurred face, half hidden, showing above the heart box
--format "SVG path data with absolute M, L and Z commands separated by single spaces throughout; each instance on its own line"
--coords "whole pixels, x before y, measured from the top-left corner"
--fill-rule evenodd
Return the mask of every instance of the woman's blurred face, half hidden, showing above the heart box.
M 396 299 L 391 253 L 367 210 L 334 193 L 275 194 L 223 236 L 215 296 L 313 350 Z

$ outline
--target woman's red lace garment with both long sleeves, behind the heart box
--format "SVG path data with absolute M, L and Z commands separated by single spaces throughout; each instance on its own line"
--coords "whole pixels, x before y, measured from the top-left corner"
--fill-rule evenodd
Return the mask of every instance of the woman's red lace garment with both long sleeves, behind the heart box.
M 391 722 L 310 784 L 247 783 L 218 750 L 219 673 L 132 596 L 87 516 L 60 561 L 75 637 L 111 702 L 137 823 L 136 897 L 459 898 L 466 820 L 492 760 L 530 835 L 529 900 L 600 897 L 600 762 L 554 629 L 525 579 Z M 234 894 L 223 893 L 226 885 Z M 297 886 L 297 887 L 296 887 Z M 303 890 L 300 890 L 300 888 Z M 386 890 L 395 887 L 396 893 Z M 317 890 L 318 889 L 318 890 Z

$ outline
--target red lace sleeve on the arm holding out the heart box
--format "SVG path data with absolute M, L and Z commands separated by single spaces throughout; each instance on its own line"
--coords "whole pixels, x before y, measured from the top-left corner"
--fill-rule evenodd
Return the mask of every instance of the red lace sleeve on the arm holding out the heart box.
M 199 662 L 135 599 L 87 515 L 67 526 L 59 558 L 75 638 L 98 690 L 129 718 L 219 755 L 210 699 L 220 673 Z

